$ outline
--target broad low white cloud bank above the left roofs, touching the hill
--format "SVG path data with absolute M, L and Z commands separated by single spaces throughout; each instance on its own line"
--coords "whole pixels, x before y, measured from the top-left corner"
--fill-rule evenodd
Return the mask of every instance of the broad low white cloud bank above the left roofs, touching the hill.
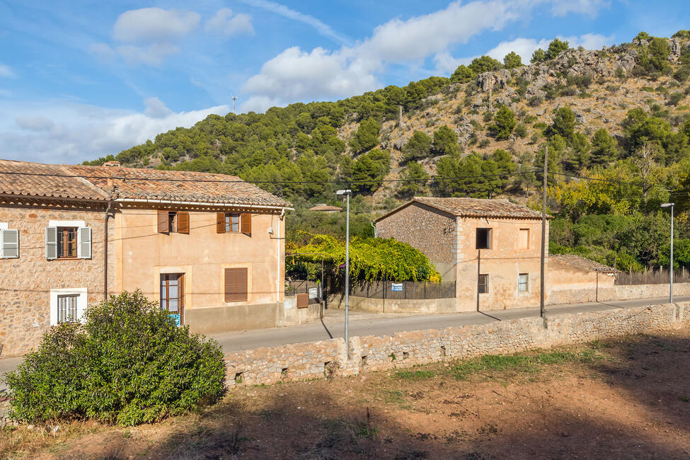
M 190 127 L 209 114 L 224 115 L 230 111 L 227 105 L 217 105 L 176 113 L 158 98 L 146 99 L 144 103 L 144 113 L 137 113 L 64 101 L 0 101 L 3 156 L 44 163 L 81 163 L 117 154 L 176 127 Z M 15 117 L 8 118 L 9 113 Z

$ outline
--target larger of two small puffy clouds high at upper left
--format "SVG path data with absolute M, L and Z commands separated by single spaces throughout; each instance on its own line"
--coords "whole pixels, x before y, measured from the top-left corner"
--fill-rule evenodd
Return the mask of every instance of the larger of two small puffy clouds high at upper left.
M 188 35 L 199 25 L 199 13 L 176 9 L 142 8 L 122 13 L 113 26 L 121 42 L 168 42 Z

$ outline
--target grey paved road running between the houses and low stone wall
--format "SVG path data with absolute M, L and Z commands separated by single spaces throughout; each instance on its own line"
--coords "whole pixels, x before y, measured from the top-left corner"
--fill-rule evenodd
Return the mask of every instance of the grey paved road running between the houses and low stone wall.
M 674 301 L 690 301 L 688 297 L 676 297 Z M 552 305 L 546 307 L 546 314 L 580 313 L 583 311 L 603 311 L 623 307 L 665 304 L 668 298 L 635 299 L 623 301 L 588 302 L 585 304 Z M 468 326 L 470 324 L 487 324 L 517 318 L 539 316 L 539 308 L 470 311 L 465 313 L 448 313 L 433 315 L 414 314 L 376 314 L 350 312 L 350 337 L 355 335 L 391 335 L 403 330 L 422 330 Z M 345 313 L 342 310 L 326 310 L 323 321 L 290 326 L 285 328 L 267 328 L 234 331 L 212 334 L 219 341 L 226 353 L 237 350 L 251 350 L 258 347 L 275 347 L 288 343 L 313 342 L 343 337 Z M 5 372 L 16 369 L 21 358 L 0 359 L 0 379 Z M 0 391 L 5 388 L 0 381 Z

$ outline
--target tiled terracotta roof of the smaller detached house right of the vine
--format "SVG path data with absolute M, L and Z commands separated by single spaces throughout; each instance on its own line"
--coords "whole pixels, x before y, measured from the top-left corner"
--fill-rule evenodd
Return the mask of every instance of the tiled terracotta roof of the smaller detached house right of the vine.
M 422 203 L 459 217 L 510 217 L 515 219 L 541 219 L 541 212 L 517 205 L 508 200 L 485 200 L 483 198 L 437 198 L 414 197 L 413 202 Z M 550 217 L 550 216 L 549 216 Z

